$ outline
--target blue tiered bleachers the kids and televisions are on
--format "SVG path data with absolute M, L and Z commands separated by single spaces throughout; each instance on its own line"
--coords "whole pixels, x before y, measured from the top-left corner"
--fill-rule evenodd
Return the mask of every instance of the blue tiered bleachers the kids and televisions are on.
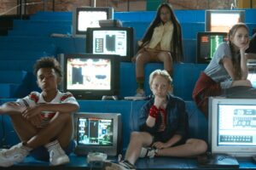
M 186 102 L 189 114 L 189 134 L 191 138 L 207 140 L 207 119 L 199 111 L 191 98 L 195 82 L 207 65 L 195 64 L 196 33 L 205 30 L 205 10 L 175 10 L 183 31 L 184 63 L 174 64 L 173 94 Z M 246 23 L 250 31 L 256 27 L 255 9 L 246 9 Z M 143 37 L 155 11 L 115 12 L 114 19 L 121 20 L 123 26 L 131 26 L 136 33 L 135 44 Z M 52 33 L 67 34 L 67 37 L 50 37 Z M 32 75 L 32 65 L 43 56 L 57 54 L 85 53 L 85 37 L 72 35 L 72 12 L 38 12 L 32 14 L 30 20 L 15 20 L 14 28 L 9 36 L 0 37 L 0 105 L 7 101 L 15 101 L 31 92 L 38 90 L 36 78 Z M 155 69 L 163 69 L 160 63 L 145 65 L 145 92 L 150 94 L 148 75 Z M 135 64 L 120 64 L 120 94 L 133 96 L 136 93 Z M 123 148 L 127 148 L 130 133 L 137 129 L 137 116 L 145 101 L 129 100 L 79 100 L 80 111 L 119 112 L 123 122 Z M 11 125 L 9 116 L 0 116 L 0 138 L 5 144 L 13 145 L 19 139 Z M 70 156 L 71 162 L 60 169 L 90 169 L 84 156 Z M 115 159 L 115 158 L 113 158 Z M 252 161 L 240 160 L 241 169 L 256 169 Z M 35 161 L 28 157 L 25 162 L 12 169 L 49 169 L 48 163 Z M 57 168 L 57 167 L 56 167 Z M 140 159 L 137 169 L 197 169 L 195 158 L 162 157 Z M 0 167 L 0 169 L 2 169 Z

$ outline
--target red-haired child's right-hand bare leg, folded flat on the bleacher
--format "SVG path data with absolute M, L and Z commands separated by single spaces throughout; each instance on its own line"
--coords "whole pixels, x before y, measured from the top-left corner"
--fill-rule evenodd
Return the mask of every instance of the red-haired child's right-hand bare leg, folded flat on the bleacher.
M 207 143 L 201 139 L 188 139 L 185 144 L 158 150 L 159 156 L 197 156 L 207 151 Z

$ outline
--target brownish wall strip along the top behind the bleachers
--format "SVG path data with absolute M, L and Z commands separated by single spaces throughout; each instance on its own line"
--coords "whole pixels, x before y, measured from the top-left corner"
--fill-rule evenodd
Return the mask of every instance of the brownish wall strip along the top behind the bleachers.
M 151 0 L 156 1 L 156 0 Z M 173 8 L 177 9 L 206 9 L 206 8 L 230 8 L 235 0 L 166 0 L 171 3 Z M 37 3 L 27 6 L 27 14 L 34 14 L 44 9 L 50 11 L 53 9 L 53 1 L 48 0 L 43 3 L 42 0 L 26 0 L 26 3 Z M 75 6 L 93 6 L 93 0 L 55 0 L 55 11 L 70 11 Z M 112 6 L 115 11 L 138 11 L 146 10 L 147 3 L 150 0 L 96 0 L 96 7 Z M 162 2 L 162 1 L 159 1 Z M 0 0 L 0 13 L 15 7 L 17 0 Z M 156 8 L 156 7 L 155 7 Z M 16 9 L 9 14 L 15 14 Z

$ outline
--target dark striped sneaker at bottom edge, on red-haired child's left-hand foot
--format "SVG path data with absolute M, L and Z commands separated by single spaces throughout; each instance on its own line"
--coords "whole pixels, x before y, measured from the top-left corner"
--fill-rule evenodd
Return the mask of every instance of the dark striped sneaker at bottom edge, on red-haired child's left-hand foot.
M 104 162 L 104 170 L 135 170 L 136 168 L 129 161 L 105 161 Z

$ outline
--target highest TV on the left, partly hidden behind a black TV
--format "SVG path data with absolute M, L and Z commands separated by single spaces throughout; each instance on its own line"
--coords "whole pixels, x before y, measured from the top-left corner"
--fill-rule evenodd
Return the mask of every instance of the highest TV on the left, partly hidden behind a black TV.
M 112 7 L 78 7 L 73 10 L 73 37 L 85 37 L 87 28 L 100 27 L 99 20 L 113 19 Z

